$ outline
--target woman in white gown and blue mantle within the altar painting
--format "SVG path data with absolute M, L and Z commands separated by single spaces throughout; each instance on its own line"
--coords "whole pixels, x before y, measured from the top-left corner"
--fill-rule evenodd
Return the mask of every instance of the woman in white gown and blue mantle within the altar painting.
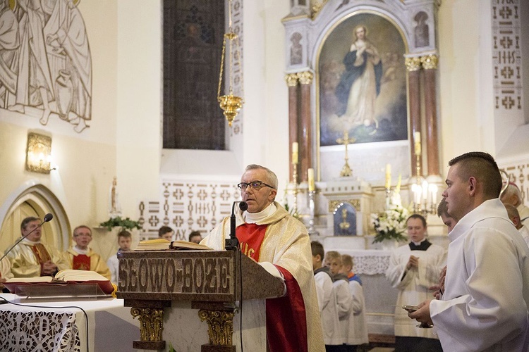
M 343 58 L 345 71 L 336 87 L 336 115 L 348 119 L 353 127 L 374 124 L 376 129 L 375 99 L 380 93 L 382 61 L 377 48 L 367 39 L 364 25 L 355 27 L 354 34 L 355 42 Z

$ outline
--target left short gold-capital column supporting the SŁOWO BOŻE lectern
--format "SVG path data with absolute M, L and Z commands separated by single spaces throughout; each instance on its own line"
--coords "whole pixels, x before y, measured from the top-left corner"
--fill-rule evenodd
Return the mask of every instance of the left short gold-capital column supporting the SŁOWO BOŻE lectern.
M 165 341 L 162 338 L 164 309 L 133 307 L 130 309 L 130 314 L 140 320 L 140 341 L 133 341 L 133 348 L 164 349 Z

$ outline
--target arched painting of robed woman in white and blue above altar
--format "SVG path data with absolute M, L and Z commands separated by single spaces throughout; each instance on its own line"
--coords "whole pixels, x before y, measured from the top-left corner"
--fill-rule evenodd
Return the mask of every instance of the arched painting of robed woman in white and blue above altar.
M 407 138 L 406 46 L 389 20 L 372 13 L 336 25 L 320 53 L 320 145 L 348 131 L 357 143 Z

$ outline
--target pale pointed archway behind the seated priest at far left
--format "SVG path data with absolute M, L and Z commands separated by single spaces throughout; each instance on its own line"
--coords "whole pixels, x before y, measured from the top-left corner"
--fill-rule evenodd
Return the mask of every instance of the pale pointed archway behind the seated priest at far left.
M 25 189 L 24 189 L 25 188 Z M 11 201 L 13 199 L 13 201 Z M 70 244 L 70 223 L 61 202 L 42 184 L 30 184 L 8 199 L 11 204 L 2 205 L 6 209 L 0 229 L 0 251 L 5 252 L 16 239 L 20 238 L 20 222 L 28 216 L 44 218 L 51 213 L 53 220 L 42 225 L 42 241 L 56 246 L 59 251 L 68 249 Z M 0 213 L 0 216 L 2 214 Z

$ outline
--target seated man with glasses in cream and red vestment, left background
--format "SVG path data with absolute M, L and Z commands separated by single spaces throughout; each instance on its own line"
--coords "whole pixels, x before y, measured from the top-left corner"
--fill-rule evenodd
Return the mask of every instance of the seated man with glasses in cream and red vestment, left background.
M 75 246 L 71 246 L 65 255 L 70 263 L 70 268 L 75 270 L 95 271 L 107 279 L 110 279 L 110 270 L 104 260 L 95 253 L 88 244 L 92 241 L 92 230 L 90 227 L 80 225 L 73 230 L 73 241 Z

